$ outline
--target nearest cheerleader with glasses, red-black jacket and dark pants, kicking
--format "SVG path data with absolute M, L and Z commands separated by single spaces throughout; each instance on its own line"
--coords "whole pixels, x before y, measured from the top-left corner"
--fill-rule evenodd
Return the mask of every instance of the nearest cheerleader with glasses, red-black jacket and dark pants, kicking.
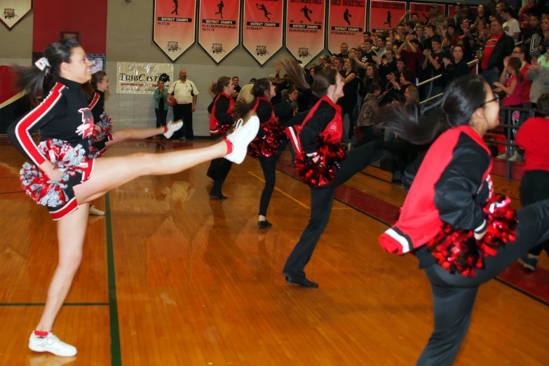
M 445 366 L 467 334 L 479 286 L 549 238 L 549 200 L 516 217 L 494 203 L 483 137 L 499 124 L 499 98 L 479 76 L 455 79 L 431 111 L 425 116 L 400 105 L 379 111 L 387 128 L 414 144 L 432 141 L 442 119 L 449 125 L 421 166 L 412 165 L 418 168 L 400 218 L 379 241 L 388 252 L 416 255 L 431 281 L 435 330 L 417 365 Z

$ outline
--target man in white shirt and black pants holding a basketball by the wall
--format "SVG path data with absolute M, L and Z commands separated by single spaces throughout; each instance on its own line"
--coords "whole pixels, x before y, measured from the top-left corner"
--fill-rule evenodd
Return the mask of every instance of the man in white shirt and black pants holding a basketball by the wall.
M 179 72 L 179 80 L 172 83 L 168 90 L 168 100 L 175 98 L 177 104 L 173 107 L 173 120 L 183 120 L 183 128 L 176 131 L 170 140 L 184 140 L 193 142 L 193 112 L 196 110 L 198 89 L 190 80 L 187 80 L 187 72 Z

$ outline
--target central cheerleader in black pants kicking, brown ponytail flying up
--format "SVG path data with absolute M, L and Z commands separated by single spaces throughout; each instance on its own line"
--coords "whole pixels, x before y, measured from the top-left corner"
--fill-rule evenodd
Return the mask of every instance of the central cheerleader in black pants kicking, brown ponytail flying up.
M 296 80 L 296 83 L 301 84 L 298 86 L 308 88 L 298 68 L 299 66 L 295 67 L 294 62 L 284 62 L 285 71 Z M 318 287 L 318 283 L 306 278 L 304 269 L 330 219 L 335 189 L 374 161 L 389 155 L 389 152 L 382 148 L 382 144 L 379 145 L 377 142 L 364 144 L 346 154 L 339 162 L 340 168 L 330 182 L 325 182 L 326 184 L 318 182 L 320 180 L 317 178 L 318 175 L 329 177 L 330 171 L 335 168 L 327 166 L 325 163 L 327 158 L 323 157 L 319 151 L 324 151 L 327 145 L 339 148 L 343 126 L 341 107 L 336 102 L 344 95 L 343 86 L 343 80 L 335 69 L 325 69 L 315 74 L 311 90 L 320 100 L 309 111 L 297 114 L 292 123 L 301 126 L 289 130 L 292 145 L 298 153 L 296 165 L 300 176 L 316 179 L 316 182 L 306 181 L 311 183 L 311 219 L 288 257 L 282 272 L 286 282 L 292 285 Z M 334 154 L 342 156 L 344 151 Z M 301 162 L 298 164 L 299 160 Z M 304 162 L 309 163 L 307 165 Z M 305 165 L 309 168 L 304 168 Z M 312 168 L 311 165 L 313 165 Z

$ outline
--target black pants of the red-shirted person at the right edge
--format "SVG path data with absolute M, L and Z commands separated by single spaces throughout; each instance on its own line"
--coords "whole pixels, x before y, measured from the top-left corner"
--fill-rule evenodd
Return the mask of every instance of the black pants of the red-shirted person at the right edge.
M 520 182 L 520 199 L 522 205 L 531 205 L 549 198 L 549 172 L 546 170 L 527 170 Z M 529 251 L 531 255 L 540 255 L 541 251 L 549 254 L 549 241 L 545 241 Z

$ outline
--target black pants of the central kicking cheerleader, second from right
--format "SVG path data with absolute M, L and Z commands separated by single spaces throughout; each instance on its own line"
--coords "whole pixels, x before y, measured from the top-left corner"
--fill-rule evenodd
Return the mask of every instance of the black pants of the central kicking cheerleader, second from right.
M 309 263 L 316 243 L 330 219 L 335 189 L 360 170 L 390 154 L 378 147 L 377 142 L 370 142 L 349 151 L 344 161 L 341 161 L 341 169 L 337 171 L 332 183 L 322 188 L 311 187 L 311 219 L 286 261 L 283 269 L 285 276 L 305 277 L 305 266 Z

